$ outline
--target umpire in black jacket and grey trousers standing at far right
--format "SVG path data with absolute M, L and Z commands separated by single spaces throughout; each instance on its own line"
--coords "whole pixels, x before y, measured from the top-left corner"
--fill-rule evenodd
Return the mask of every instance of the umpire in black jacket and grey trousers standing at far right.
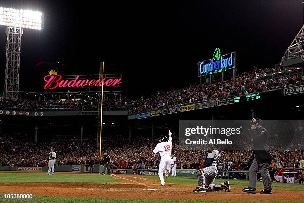
M 263 121 L 258 118 L 251 120 L 251 131 L 253 133 L 253 161 L 249 168 L 249 186 L 244 188 L 246 193 L 256 193 L 257 172 L 260 170 L 264 190 L 261 194 L 271 194 L 271 179 L 269 175 L 269 164 L 272 160 L 269 147 L 267 146 L 267 131 L 262 127 Z

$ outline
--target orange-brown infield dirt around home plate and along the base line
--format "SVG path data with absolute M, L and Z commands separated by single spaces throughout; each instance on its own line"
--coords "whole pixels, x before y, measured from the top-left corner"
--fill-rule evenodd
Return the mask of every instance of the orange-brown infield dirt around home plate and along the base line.
M 26 172 L 25 172 L 26 173 Z M 19 173 L 20 174 L 20 173 Z M 56 175 L 61 175 L 57 173 Z M 64 173 L 64 175 L 68 175 Z M 73 173 L 75 175 L 75 173 Z M 81 175 L 81 174 L 79 174 Z M 96 174 L 99 175 L 99 174 Z M 247 194 L 242 188 L 231 186 L 231 192 L 217 191 L 193 193 L 193 185 L 160 182 L 145 176 L 116 175 L 122 183 L 4 183 L 0 193 L 32 193 L 37 196 L 55 197 L 106 197 L 147 199 L 213 199 L 213 200 L 285 200 L 299 201 L 304 191 L 275 190 L 273 194 Z

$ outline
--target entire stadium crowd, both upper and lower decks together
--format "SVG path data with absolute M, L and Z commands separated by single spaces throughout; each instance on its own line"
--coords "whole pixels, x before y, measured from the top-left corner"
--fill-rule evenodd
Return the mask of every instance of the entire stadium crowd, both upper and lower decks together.
M 242 73 L 235 79 L 212 84 L 190 85 L 183 89 L 173 89 L 170 91 L 157 91 L 157 94 L 144 99 L 127 99 L 124 97 L 106 98 L 104 100 L 105 110 L 128 110 L 129 113 L 139 113 L 149 110 L 169 108 L 180 104 L 217 100 L 222 97 L 249 94 L 253 92 L 263 92 L 294 85 L 303 84 L 301 75 L 290 77 L 277 77 L 273 79 L 261 80 L 264 74 L 271 74 L 272 69 L 255 70 Z M 82 98 L 79 100 L 38 100 L 38 99 L 19 99 L 6 100 L 0 98 L 0 107 L 18 109 L 82 109 L 97 110 L 98 99 L 94 97 Z M 272 140 L 279 146 L 283 139 L 290 139 L 285 136 L 290 134 L 284 130 L 282 134 L 276 134 Z M 298 129 L 299 135 L 303 135 L 303 128 Z M 301 134 L 302 133 L 302 134 Z M 301 137 L 302 140 L 298 138 Z M 292 146 L 303 143 L 303 136 L 295 137 Z M 120 142 L 116 142 L 120 140 Z M 115 143 L 113 143 L 115 142 Z M 136 168 L 136 169 L 155 169 L 159 165 L 158 155 L 153 156 L 152 150 L 155 142 L 147 138 L 138 138 L 135 142 L 129 143 L 123 136 L 105 138 L 103 150 L 107 151 L 111 157 L 112 168 Z M 198 150 L 185 150 L 180 148 L 178 142 L 173 142 L 173 154 L 177 157 L 177 168 L 197 169 L 204 163 L 205 152 Z M 113 147 L 115 146 L 115 147 Z M 30 136 L 20 133 L 0 132 L 0 162 L 3 166 L 47 166 L 47 155 L 50 147 L 55 147 L 57 153 L 56 165 L 87 164 L 89 159 L 94 159 L 99 164 L 96 143 L 78 141 L 55 142 L 42 141 L 33 142 Z M 282 146 L 283 148 L 283 146 Z M 288 149 L 288 148 L 284 148 Z M 303 148 L 302 148 L 303 149 Z M 303 151 L 288 149 L 287 151 L 272 151 L 273 177 L 280 168 L 304 168 Z M 218 162 L 218 170 L 241 171 L 248 170 L 252 157 L 251 151 L 221 151 L 221 158 Z M 102 164 L 102 160 L 101 160 Z M 223 174 L 225 176 L 225 174 Z

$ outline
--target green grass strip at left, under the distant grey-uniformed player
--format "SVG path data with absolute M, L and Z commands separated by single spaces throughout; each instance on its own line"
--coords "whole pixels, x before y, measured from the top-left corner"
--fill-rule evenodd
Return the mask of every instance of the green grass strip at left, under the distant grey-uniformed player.
M 72 183 L 121 183 L 103 175 L 46 175 L 46 173 L 12 174 L 0 173 L 0 183 L 40 183 L 40 182 L 72 182 Z

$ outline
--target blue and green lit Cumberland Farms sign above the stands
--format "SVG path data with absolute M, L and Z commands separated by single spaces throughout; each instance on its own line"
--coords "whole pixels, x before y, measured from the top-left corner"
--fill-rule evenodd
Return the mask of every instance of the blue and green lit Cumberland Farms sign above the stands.
M 235 52 L 221 56 L 221 51 L 216 48 L 213 52 L 213 58 L 198 63 L 198 76 L 207 76 L 222 73 L 235 67 Z

